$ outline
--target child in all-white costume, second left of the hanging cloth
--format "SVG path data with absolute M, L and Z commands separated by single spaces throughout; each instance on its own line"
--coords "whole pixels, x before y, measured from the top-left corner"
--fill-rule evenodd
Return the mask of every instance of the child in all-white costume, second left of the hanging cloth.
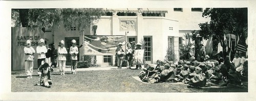
M 60 47 L 58 48 L 58 60 L 59 60 L 59 71 L 61 72 L 60 75 L 65 75 L 65 68 L 66 68 L 66 54 L 68 54 L 67 49 L 64 47 L 64 41 L 60 41 Z

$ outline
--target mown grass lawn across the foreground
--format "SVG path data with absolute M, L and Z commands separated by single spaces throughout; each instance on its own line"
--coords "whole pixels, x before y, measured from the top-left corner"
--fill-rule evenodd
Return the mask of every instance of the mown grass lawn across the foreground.
M 69 68 L 67 68 L 68 70 Z M 34 71 L 33 78 L 26 78 L 24 71 L 11 75 L 12 92 L 248 92 L 245 88 L 187 88 L 182 83 L 145 84 L 135 80 L 141 70 L 104 70 L 77 71 L 77 74 L 66 72 L 51 73 L 53 84 L 51 88 L 34 86 L 39 83 L 39 77 Z M 247 85 L 247 84 L 246 84 Z

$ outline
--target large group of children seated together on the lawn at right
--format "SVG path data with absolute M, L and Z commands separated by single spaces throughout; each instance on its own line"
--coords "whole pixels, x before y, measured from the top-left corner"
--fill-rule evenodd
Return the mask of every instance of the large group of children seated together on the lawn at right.
M 139 74 L 143 82 L 182 82 L 187 87 L 205 86 L 232 86 L 242 87 L 243 78 L 247 78 L 248 61 L 244 57 L 236 57 L 233 61 L 227 56 L 209 60 L 209 56 L 202 57 L 199 61 L 191 56 L 189 60 L 179 60 L 175 65 L 173 61 L 157 60 L 155 64 L 145 64 Z

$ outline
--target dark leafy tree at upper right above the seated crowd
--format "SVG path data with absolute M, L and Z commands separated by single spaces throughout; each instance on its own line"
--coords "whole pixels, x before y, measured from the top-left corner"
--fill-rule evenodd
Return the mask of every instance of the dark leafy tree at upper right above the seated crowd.
M 247 8 L 207 8 L 202 17 L 210 17 L 210 22 L 200 23 L 197 32 L 204 39 L 212 37 L 214 50 L 218 48 L 218 42 L 224 39 L 224 34 L 231 33 L 247 37 Z

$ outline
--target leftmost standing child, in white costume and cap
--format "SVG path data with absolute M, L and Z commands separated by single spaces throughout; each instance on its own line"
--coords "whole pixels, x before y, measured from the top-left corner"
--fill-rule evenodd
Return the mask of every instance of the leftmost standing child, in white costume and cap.
M 27 78 L 32 78 L 33 74 L 33 62 L 34 62 L 34 53 L 35 50 L 33 47 L 31 47 L 31 42 L 27 40 L 27 47 L 24 47 L 24 53 L 25 53 L 25 72 L 27 75 Z

